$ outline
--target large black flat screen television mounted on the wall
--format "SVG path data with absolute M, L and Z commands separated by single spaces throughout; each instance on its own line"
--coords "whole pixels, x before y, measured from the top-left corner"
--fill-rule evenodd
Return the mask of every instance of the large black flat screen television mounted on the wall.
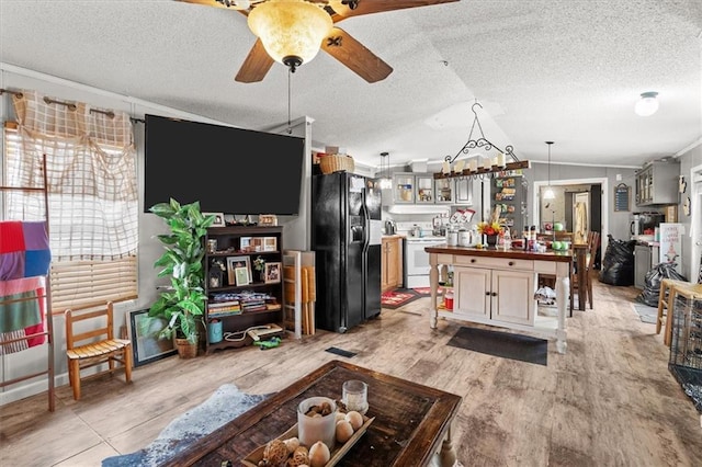
M 305 139 L 146 115 L 144 210 L 172 197 L 204 213 L 297 215 Z

